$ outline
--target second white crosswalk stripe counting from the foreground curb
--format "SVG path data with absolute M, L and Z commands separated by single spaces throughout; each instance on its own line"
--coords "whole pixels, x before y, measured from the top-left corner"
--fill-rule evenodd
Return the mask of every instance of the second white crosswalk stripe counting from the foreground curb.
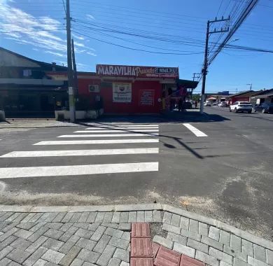
M 92 156 L 159 153 L 159 148 L 114 148 L 104 150 L 69 150 L 69 151 L 13 151 L 1 155 L 0 158 L 18 157 L 52 157 L 52 156 Z

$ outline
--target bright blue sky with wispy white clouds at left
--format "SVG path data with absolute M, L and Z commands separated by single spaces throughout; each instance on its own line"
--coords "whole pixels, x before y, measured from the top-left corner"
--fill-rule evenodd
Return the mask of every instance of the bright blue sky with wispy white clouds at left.
M 247 0 L 71 0 L 78 69 L 95 71 L 96 64 L 179 66 L 180 78 L 192 79 L 202 68 L 207 20 L 231 13 L 232 24 L 244 3 Z M 273 0 L 260 0 L 232 44 L 273 50 L 272 14 Z M 62 0 L 0 0 L 0 46 L 66 64 L 64 17 Z M 225 27 L 226 22 L 215 26 Z M 219 36 L 211 35 L 211 47 Z M 207 91 L 248 90 L 249 83 L 254 90 L 271 88 L 272 61 L 272 53 L 225 49 L 209 68 Z

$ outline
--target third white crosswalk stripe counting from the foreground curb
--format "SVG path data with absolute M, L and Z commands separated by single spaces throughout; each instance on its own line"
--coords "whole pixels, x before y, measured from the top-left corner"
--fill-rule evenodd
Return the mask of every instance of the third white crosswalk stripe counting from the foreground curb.
M 84 141 L 40 141 L 33 145 L 78 145 L 78 144 L 141 144 L 159 142 L 159 139 L 96 139 Z

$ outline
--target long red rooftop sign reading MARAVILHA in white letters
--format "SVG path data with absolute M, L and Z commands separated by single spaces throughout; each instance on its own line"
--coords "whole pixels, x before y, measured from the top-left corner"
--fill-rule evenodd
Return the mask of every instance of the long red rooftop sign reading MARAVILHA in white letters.
M 116 66 L 97 64 L 97 75 L 100 76 L 130 76 L 141 78 L 179 78 L 178 67 L 159 66 Z

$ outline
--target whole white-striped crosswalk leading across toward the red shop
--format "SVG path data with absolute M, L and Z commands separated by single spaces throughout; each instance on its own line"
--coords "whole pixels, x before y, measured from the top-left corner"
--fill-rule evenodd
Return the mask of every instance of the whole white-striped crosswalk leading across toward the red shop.
M 26 160 L 29 165 L 21 167 L 21 162 L 20 167 L 0 167 L 0 179 L 158 172 L 158 144 L 159 126 L 155 124 L 90 123 L 85 130 L 57 136 L 56 140 L 39 141 L 30 151 L 1 155 L 0 162 Z M 33 166 L 39 158 L 44 160 L 44 165 L 41 166 L 40 160 L 38 166 Z M 69 158 L 79 159 L 73 165 L 73 160 Z M 55 160 L 58 165 L 55 165 Z M 83 163 L 80 164 L 80 161 Z M 69 162 L 71 165 L 67 165 Z

